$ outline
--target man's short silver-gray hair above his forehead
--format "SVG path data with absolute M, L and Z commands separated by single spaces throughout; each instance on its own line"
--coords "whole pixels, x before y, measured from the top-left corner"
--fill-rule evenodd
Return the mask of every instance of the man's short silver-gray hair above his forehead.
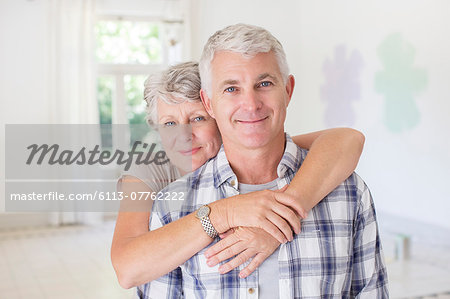
M 219 51 L 231 51 L 251 58 L 258 53 L 273 51 L 284 82 L 289 77 L 289 67 L 281 43 L 266 29 L 247 24 L 225 27 L 214 33 L 206 42 L 200 58 L 199 69 L 202 88 L 211 97 L 211 62 Z

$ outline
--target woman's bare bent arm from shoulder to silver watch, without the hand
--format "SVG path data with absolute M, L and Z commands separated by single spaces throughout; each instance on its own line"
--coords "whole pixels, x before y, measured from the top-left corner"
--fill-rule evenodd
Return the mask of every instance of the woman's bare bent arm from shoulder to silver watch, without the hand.
M 132 192 L 152 192 L 133 176 L 124 176 L 121 185 L 124 199 Z M 135 201 L 125 200 L 117 216 L 111 262 L 119 284 L 126 289 L 172 271 L 212 241 L 194 214 L 149 231 L 152 204 L 148 200 L 137 207 Z

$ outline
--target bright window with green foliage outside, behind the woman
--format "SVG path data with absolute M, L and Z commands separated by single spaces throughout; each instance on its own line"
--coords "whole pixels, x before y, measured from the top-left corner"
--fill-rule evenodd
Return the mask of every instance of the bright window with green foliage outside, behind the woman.
M 112 124 L 144 125 L 144 81 L 152 73 L 181 60 L 180 43 L 174 43 L 173 25 L 153 18 L 99 17 L 95 25 L 97 99 L 102 146 L 124 144 L 112 136 Z M 167 42 L 166 42 L 167 41 Z M 130 142 L 142 140 L 145 131 L 128 130 Z

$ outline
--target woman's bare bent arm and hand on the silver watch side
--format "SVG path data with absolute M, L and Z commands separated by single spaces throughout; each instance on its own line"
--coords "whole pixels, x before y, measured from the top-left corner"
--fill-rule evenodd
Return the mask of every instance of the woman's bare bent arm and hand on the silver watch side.
M 119 284 L 123 288 L 141 285 L 167 274 L 213 241 L 204 232 L 195 213 L 149 231 L 152 200 L 132 201 L 130 195 L 132 192 L 150 194 L 152 190 L 133 176 L 124 176 L 121 186 L 124 200 L 117 216 L 111 245 L 111 261 Z M 263 231 L 272 231 L 273 236 L 276 237 L 274 240 L 277 242 L 292 240 L 291 227 L 294 227 L 297 232 L 300 231 L 300 224 L 295 213 L 280 204 L 271 192 L 255 192 L 249 198 L 242 195 L 241 205 L 230 207 L 228 202 L 234 200 L 234 197 L 230 197 L 210 204 L 214 211 L 210 215 L 211 221 L 220 233 L 231 228 L 228 220 L 223 218 L 227 217 L 227 213 L 222 211 L 224 209 L 228 209 L 228 214 L 234 214 L 236 226 L 252 226 L 265 229 Z M 233 207 L 238 210 L 233 210 Z M 250 208 L 258 212 L 249 216 L 245 211 Z M 278 214 L 274 210 L 278 211 Z M 277 225 L 283 226 L 286 232 L 282 233 L 282 228 L 278 228 L 268 218 L 272 221 L 278 218 L 277 221 L 281 224 Z M 290 222 L 287 223 L 284 219 L 289 219 L 287 221 Z M 269 233 L 268 235 L 271 236 Z

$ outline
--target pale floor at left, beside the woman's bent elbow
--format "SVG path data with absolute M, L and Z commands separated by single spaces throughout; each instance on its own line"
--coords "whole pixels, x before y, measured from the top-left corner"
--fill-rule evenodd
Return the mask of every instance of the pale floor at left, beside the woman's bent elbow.
M 131 298 L 109 259 L 113 222 L 0 232 L 0 298 Z

